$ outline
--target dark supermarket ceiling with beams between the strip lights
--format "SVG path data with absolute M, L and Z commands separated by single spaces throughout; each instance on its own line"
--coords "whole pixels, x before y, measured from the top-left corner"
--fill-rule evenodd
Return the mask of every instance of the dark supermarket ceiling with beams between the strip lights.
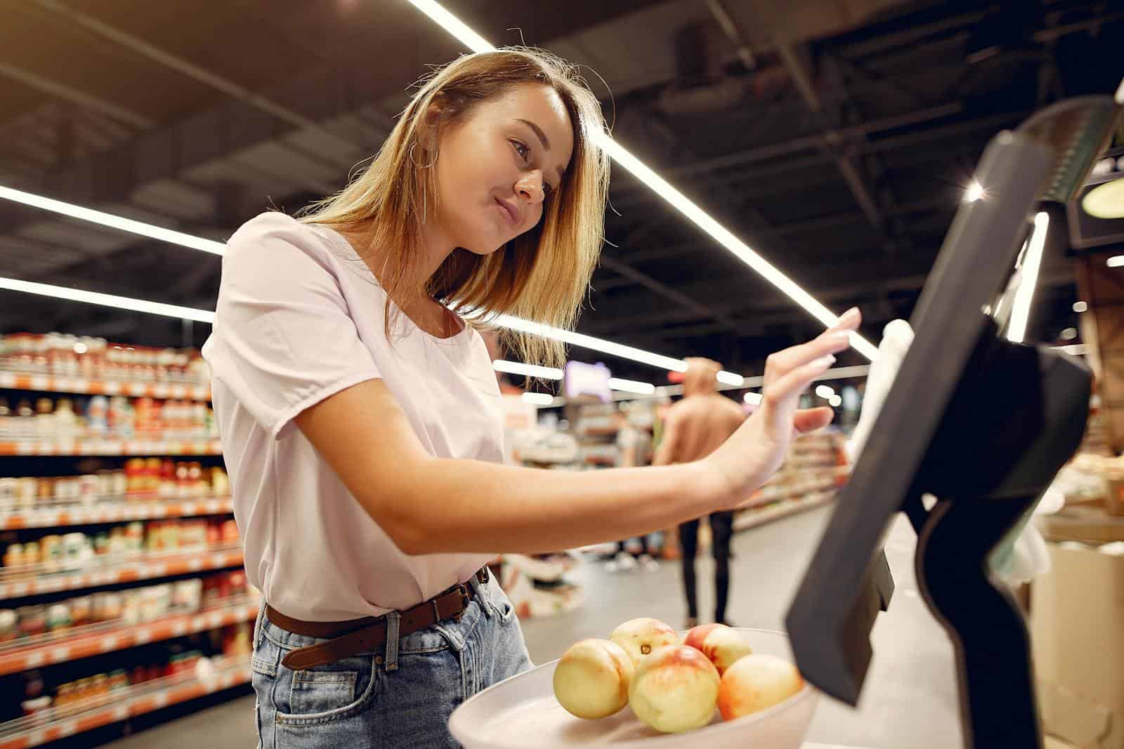
M 623 145 L 827 307 L 859 304 L 876 342 L 909 314 L 988 139 L 1124 75 L 1124 12 L 1106 1 L 444 4 L 493 43 L 587 65 Z M 215 239 L 338 190 L 427 65 L 463 49 L 405 0 L 284 6 L 0 0 L 0 184 Z M 817 332 L 620 170 L 610 199 L 582 332 L 746 374 Z M 1051 243 L 1031 339 L 1076 325 L 1064 252 Z M 208 309 L 220 270 L 2 201 L 0 261 L 0 275 Z M 0 332 L 15 330 L 208 332 L 0 292 Z

